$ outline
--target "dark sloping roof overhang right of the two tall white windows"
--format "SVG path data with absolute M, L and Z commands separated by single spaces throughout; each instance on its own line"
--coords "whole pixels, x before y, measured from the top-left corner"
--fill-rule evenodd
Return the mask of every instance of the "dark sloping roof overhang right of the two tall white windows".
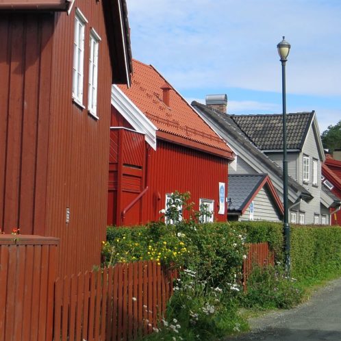
M 131 85 L 131 45 L 127 3 L 125 0 L 102 0 L 112 64 L 112 84 Z

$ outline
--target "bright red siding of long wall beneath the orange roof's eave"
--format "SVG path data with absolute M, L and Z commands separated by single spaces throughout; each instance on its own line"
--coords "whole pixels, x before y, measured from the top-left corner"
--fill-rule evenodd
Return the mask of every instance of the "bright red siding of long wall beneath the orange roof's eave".
M 150 160 L 150 190 L 143 199 L 143 223 L 159 218 L 166 193 L 175 190 L 189 191 L 195 210 L 199 210 L 200 198 L 213 199 L 214 219 L 226 221 L 226 205 L 225 214 L 218 214 L 218 184 L 225 183 L 227 197 L 227 160 L 162 140 L 157 141 Z

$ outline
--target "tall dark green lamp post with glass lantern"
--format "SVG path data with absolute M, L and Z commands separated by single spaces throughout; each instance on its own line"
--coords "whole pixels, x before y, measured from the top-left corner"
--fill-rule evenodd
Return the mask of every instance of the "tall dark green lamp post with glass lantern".
M 289 226 L 289 207 L 288 207 L 288 158 L 286 152 L 286 61 L 290 51 L 290 44 L 284 40 L 277 45 L 277 51 L 282 64 L 282 103 L 283 103 L 283 234 L 284 234 L 284 253 L 286 257 L 286 273 L 290 275 L 290 226 Z

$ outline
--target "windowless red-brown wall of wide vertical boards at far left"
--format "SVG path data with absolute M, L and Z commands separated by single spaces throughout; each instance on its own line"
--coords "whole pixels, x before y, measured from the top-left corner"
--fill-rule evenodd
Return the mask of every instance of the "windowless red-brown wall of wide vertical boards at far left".
M 0 14 L 0 226 L 44 234 L 53 16 Z

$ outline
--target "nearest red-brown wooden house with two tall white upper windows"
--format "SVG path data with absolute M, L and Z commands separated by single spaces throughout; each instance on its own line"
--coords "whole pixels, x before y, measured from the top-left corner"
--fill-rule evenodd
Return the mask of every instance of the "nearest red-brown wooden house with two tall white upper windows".
M 60 238 L 59 275 L 100 262 L 127 25 L 125 0 L 0 1 L 0 227 Z

